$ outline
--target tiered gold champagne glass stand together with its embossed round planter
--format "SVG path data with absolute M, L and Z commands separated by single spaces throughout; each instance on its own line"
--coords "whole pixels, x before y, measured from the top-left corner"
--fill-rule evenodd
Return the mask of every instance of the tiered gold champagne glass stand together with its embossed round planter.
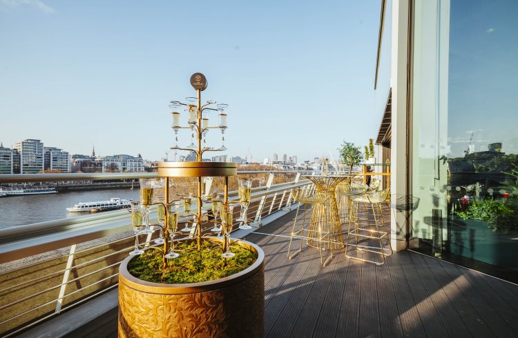
M 189 112 L 189 127 L 180 126 L 180 112 L 173 116 L 175 133 L 181 128 L 189 128 L 198 145 L 180 148 L 177 145 L 171 149 L 194 152 L 196 161 L 192 162 L 162 162 L 158 163 L 158 176 L 163 177 L 164 203 L 153 201 L 152 204 L 172 203 L 169 199 L 170 181 L 173 177 L 198 177 L 198 210 L 193 214 L 196 222 L 195 233 L 188 239 L 180 241 L 197 241 L 198 250 L 202 241 L 221 242 L 216 237 L 202 237 L 202 181 L 203 177 L 224 177 L 224 197 L 218 200 L 222 203 L 223 212 L 227 217 L 229 212 L 229 177 L 237 175 L 236 163 L 204 162 L 202 155 L 206 151 L 226 150 L 209 148 L 204 145 L 204 136 L 211 128 L 227 128 L 227 114 L 220 110 L 220 126 L 209 127 L 209 119 L 204 112 L 215 110 L 210 105 L 215 101 L 207 101 L 202 105 L 201 92 L 207 88 L 207 79 L 201 73 L 191 77 L 191 85 L 197 96 L 190 104 L 171 101 L 176 107 L 186 106 Z M 227 106 L 227 105 L 225 105 Z M 218 111 L 218 110 L 216 110 Z M 202 142 L 203 140 L 203 142 Z M 212 199 L 214 201 L 214 199 Z M 166 208 L 166 213 L 170 211 Z M 164 233 L 168 234 L 169 217 L 164 219 Z M 228 221 L 227 221 L 228 222 Z M 225 227 L 223 227 L 225 228 Z M 223 229 L 223 251 L 229 249 L 230 229 Z M 227 238 L 228 237 L 228 238 Z M 242 246 L 256 252 L 258 258 L 254 264 L 228 277 L 191 284 L 159 284 L 143 281 L 133 277 L 128 272 L 128 263 L 133 256 L 127 257 L 119 267 L 119 337 L 264 337 L 265 317 L 265 255 L 253 243 L 234 241 L 235 246 Z M 148 250 L 155 249 L 150 247 Z M 163 254 L 169 252 L 169 241 L 164 241 Z M 232 252 L 225 252 L 225 254 Z M 222 255 L 222 259 L 232 259 L 232 256 Z M 163 268 L 168 259 L 164 255 Z M 246 324 L 246 325 L 245 325 Z

